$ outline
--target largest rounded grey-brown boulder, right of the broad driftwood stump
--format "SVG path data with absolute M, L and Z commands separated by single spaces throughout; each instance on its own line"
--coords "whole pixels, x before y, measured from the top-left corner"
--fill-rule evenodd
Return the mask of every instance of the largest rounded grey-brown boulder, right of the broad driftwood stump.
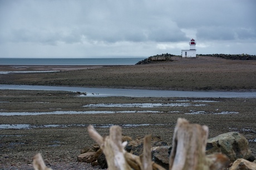
M 253 161 L 255 158 L 249 150 L 248 141 L 238 132 L 224 133 L 210 138 L 206 145 L 206 154 L 221 152 L 226 154 L 230 161 L 243 158 Z

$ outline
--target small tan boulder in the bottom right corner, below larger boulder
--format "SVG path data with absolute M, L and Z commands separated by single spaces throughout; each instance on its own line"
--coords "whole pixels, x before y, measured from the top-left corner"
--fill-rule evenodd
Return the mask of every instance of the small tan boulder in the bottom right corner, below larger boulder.
M 229 170 L 255 170 L 256 169 L 256 163 L 247 161 L 245 159 L 237 159 L 232 164 L 232 167 L 229 168 Z

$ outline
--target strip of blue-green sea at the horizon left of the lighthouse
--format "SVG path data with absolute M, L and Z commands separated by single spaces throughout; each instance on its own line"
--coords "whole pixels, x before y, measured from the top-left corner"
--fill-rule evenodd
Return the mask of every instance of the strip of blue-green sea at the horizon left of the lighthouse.
M 0 65 L 134 65 L 145 58 L 0 58 Z

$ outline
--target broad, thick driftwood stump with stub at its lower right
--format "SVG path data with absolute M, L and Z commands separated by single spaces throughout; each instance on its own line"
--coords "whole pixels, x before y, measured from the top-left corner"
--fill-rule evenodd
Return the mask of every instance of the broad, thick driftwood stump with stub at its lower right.
M 208 127 L 178 119 L 174 130 L 169 169 L 220 169 L 228 162 L 223 154 L 205 155 Z

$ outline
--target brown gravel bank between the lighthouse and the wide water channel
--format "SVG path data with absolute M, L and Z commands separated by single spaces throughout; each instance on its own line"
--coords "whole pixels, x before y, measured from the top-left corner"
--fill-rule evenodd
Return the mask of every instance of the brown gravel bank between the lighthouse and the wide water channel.
M 0 75 L 0 84 L 116 87 L 165 90 L 251 90 L 256 89 L 256 60 L 198 58 L 127 66 L 84 66 L 60 72 Z M 1 66 L 4 70 L 33 70 L 38 66 Z M 40 67 L 41 70 L 44 67 Z M 72 66 L 75 68 L 75 66 Z M 46 70 L 57 67 L 45 66 Z M 44 70 L 44 69 L 43 69 Z

